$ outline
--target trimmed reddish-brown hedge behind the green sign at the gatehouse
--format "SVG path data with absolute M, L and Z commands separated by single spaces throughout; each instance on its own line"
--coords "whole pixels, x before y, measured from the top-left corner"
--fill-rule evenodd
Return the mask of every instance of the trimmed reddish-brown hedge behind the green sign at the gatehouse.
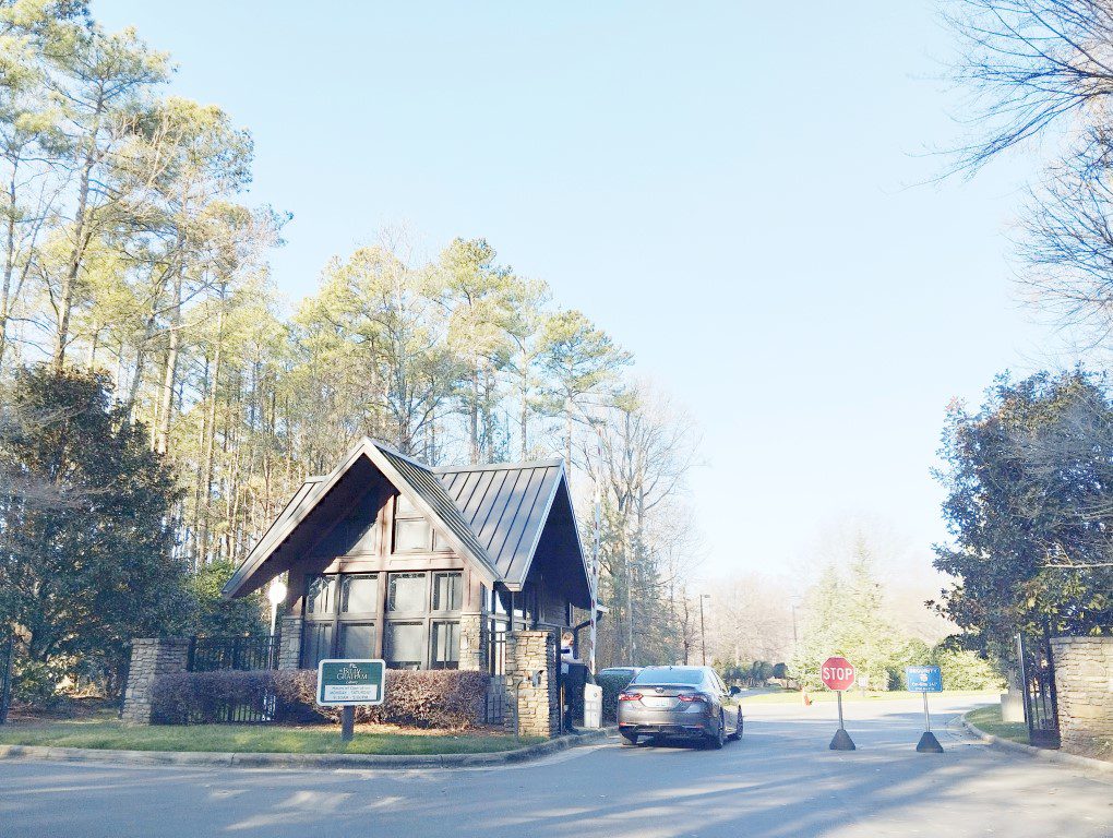
M 461 670 L 387 670 L 386 700 L 356 707 L 359 722 L 464 730 L 483 723 L 490 676 Z M 176 672 L 154 684 L 156 724 L 229 721 L 236 708 L 270 713 L 275 722 L 338 720 L 341 708 L 317 707 L 317 671 L 258 670 Z

